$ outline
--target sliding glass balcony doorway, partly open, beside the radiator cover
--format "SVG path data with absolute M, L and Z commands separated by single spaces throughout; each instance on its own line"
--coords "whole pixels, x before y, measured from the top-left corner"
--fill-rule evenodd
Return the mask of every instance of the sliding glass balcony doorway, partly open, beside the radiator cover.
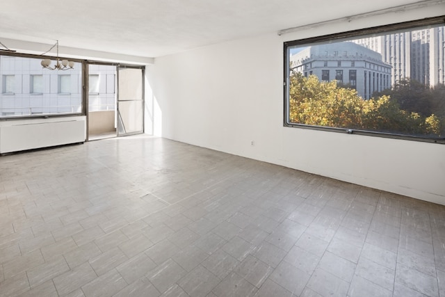
M 88 64 L 88 141 L 144 132 L 143 67 Z

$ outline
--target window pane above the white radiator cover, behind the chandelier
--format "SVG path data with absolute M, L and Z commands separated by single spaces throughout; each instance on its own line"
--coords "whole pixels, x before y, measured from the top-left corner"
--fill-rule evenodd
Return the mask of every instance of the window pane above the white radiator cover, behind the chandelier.
M 44 69 L 40 61 L 0 55 L 0 118 L 82 112 L 81 63 L 62 71 Z

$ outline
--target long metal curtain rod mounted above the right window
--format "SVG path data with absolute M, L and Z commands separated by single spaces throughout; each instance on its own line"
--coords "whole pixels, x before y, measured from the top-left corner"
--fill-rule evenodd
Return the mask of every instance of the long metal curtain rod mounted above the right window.
M 353 19 L 359 19 L 362 17 L 373 17 L 375 15 L 384 15 L 386 13 L 398 13 L 401 11 L 405 11 L 405 10 L 413 10 L 416 8 L 423 8 L 423 7 L 428 7 L 428 6 L 433 6 L 433 5 L 439 5 L 444 3 L 445 0 L 424 0 L 424 1 L 419 1 L 416 3 L 411 3 L 411 4 L 405 4 L 405 5 L 401 5 L 401 6 L 394 6 L 394 7 L 390 7 L 390 8 L 384 8 L 384 9 L 379 9 L 379 10 L 373 10 L 370 11 L 369 13 L 359 13 L 357 15 L 350 15 L 348 17 L 340 17 L 338 19 L 330 19 L 328 21 L 323 21 L 323 22 L 317 22 L 317 23 L 312 23 L 312 24 L 307 24 L 307 25 L 303 25 L 303 26 L 296 26 L 293 28 L 288 28 L 288 29 L 283 29 L 278 31 L 278 35 L 283 35 L 286 33 L 291 33 L 291 32 L 295 32 L 295 31 L 300 31 L 302 29 L 312 29 L 318 26 L 323 26 L 325 24 L 332 24 L 332 23 L 336 23 L 336 22 L 350 22 Z

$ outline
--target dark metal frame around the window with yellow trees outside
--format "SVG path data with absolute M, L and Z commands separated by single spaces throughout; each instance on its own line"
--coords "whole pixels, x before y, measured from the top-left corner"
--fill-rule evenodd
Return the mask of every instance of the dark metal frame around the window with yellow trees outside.
M 290 128 L 298 128 L 298 129 L 314 129 L 321 131 L 332 131 L 338 133 L 347 133 L 347 134 L 357 134 L 364 136 L 377 136 L 383 138 L 396 138 L 403 139 L 408 141 L 421 141 L 427 143 L 439 143 L 445 144 L 445 137 L 435 138 L 428 136 L 415 136 L 408 134 L 396 134 L 396 133 L 387 133 L 382 131 L 368 131 L 368 130 L 359 130 L 359 129 L 347 129 L 340 127 L 326 127 L 326 126 L 315 126 L 315 125 L 306 125 L 295 122 L 290 122 L 290 100 L 289 100 L 289 73 L 290 73 L 290 55 L 289 48 L 296 46 L 303 46 L 309 44 L 319 44 L 321 42 L 340 42 L 341 40 L 348 40 L 352 38 L 365 38 L 371 36 L 373 34 L 382 34 L 389 33 L 407 29 L 414 29 L 415 27 L 421 26 L 445 26 L 445 15 L 439 17 L 429 17 L 426 19 L 416 19 L 408 22 L 401 22 L 395 24 L 388 24 L 383 26 L 373 26 L 366 29 L 357 29 L 353 31 L 343 31 L 339 33 L 332 33 L 327 35 L 320 35 L 312 38 L 303 38 L 300 40 L 291 40 L 283 43 L 283 86 L 284 86 L 284 116 L 283 116 L 283 126 Z M 321 80 L 321 79 L 320 79 Z

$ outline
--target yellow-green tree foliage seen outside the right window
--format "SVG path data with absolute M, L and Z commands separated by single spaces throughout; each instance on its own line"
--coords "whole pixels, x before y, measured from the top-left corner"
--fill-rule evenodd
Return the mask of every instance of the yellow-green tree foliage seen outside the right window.
M 396 134 L 445 135 L 445 114 L 432 113 L 444 111 L 445 88 L 410 87 L 419 92 L 414 93 L 402 83 L 394 90 L 364 100 L 356 90 L 338 86 L 336 81 L 319 81 L 314 75 L 303 77 L 300 72 L 292 72 L 290 120 L 305 125 Z

